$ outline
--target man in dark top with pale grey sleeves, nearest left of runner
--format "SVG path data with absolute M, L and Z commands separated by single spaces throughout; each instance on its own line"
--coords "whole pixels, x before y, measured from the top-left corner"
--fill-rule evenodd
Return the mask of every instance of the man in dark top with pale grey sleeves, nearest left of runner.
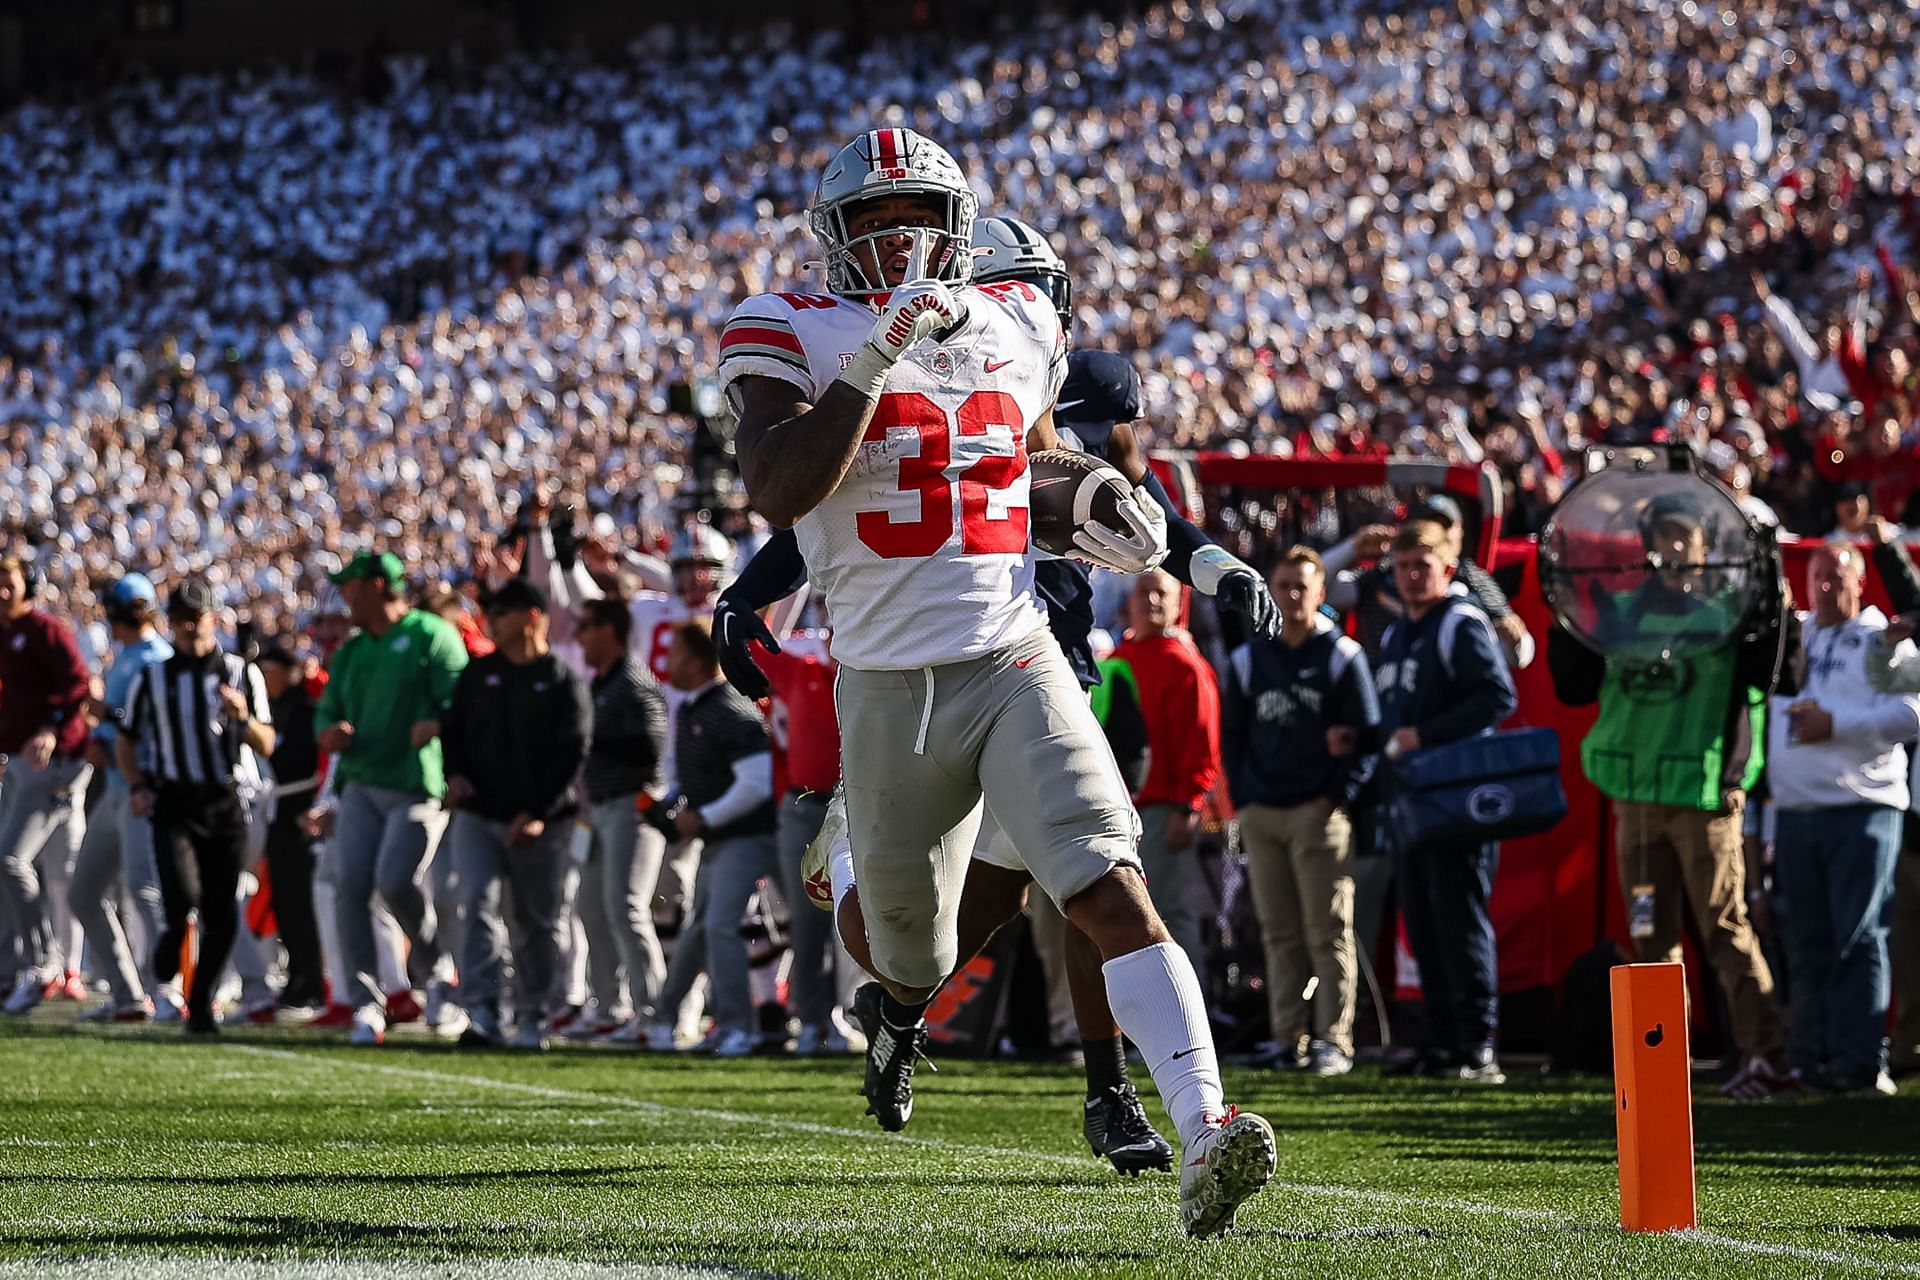
M 666 652 L 668 677 L 682 693 L 674 723 L 680 794 L 666 818 L 682 839 L 703 841 L 703 848 L 687 927 L 666 969 L 660 1023 L 647 1044 L 676 1046 L 680 1006 L 705 969 L 714 1025 L 701 1050 L 745 1057 L 756 1036 L 739 921 L 760 877 L 778 873 L 774 756 L 760 712 L 720 677 L 720 654 L 705 620 L 676 626 Z

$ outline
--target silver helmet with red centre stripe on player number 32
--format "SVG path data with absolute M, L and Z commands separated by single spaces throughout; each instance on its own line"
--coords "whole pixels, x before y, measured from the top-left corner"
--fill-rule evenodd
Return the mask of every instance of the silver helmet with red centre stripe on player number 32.
M 841 148 L 828 165 L 806 211 L 814 238 L 828 255 L 828 290 L 841 297 L 885 294 L 885 278 L 876 280 L 877 242 L 902 228 L 866 236 L 847 232 L 854 205 L 879 196 L 935 196 L 947 201 L 945 225 L 937 232 L 912 228 L 925 274 L 948 284 L 966 284 L 973 269 L 973 215 L 979 201 L 966 175 L 943 146 L 912 129 L 870 129 Z M 864 248 L 874 246 L 870 253 Z

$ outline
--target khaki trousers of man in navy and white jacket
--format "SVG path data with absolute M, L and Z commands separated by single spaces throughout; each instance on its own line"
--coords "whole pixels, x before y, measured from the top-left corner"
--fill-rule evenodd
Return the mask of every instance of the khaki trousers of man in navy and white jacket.
M 1354 946 L 1354 850 L 1346 814 L 1311 800 L 1292 808 L 1240 810 L 1246 883 L 1267 952 L 1267 1015 L 1273 1042 L 1298 1050 L 1311 1002 L 1315 1040 L 1354 1052 L 1359 952 Z

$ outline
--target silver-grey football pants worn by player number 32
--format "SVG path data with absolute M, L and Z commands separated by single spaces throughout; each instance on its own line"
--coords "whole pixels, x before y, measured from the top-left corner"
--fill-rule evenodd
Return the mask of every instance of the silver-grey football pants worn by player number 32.
M 1139 865 L 1127 785 L 1048 631 L 916 672 L 841 666 L 833 700 L 868 946 L 895 983 L 954 969 L 981 794 L 1056 904 Z

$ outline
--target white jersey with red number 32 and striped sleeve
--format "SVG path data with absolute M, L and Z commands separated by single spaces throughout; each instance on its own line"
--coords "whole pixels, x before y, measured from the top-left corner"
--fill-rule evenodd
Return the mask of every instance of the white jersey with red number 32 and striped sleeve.
M 833 656 L 914 670 L 1018 645 L 1046 626 L 1027 541 L 1027 430 L 1066 378 L 1052 305 L 1020 282 L 960 290 L 968 319 L 887 374 L 852 466 L 793 533 L 833 618 Z M 720 382 L 791 382 L 808 403 L 874 330 L 866 303 L 760 294 L 720 336 Z

